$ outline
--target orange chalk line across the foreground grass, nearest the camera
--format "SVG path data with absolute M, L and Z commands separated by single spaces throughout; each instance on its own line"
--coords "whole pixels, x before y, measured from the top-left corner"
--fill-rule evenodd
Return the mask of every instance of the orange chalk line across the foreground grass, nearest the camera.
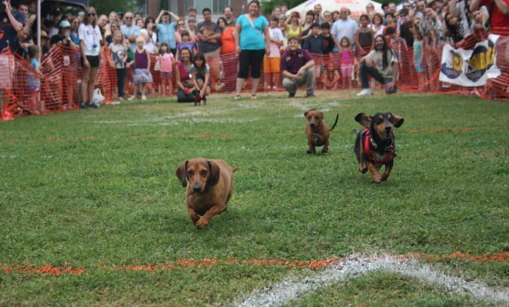
M 504 253 L 488 253 L 481 256 L 470 255 L 469 252 L 462 253 L 456 252 L 449 255 L 429 255 L 429 254 L 407 254 L 407 255 L 395 255 L 389 256 L 392 259 L 417 259 L 417 260 L 446 260 L 446 259 L 460 259 L 466 261 L 474 261 L 474 262 L 508 262 L 509 261 L 509 252 Z M 287 268 L 310 268 L 310 269 L 318 269 L 321 267 L 325 267 L 332 264 L 339 264 L 345 261 L 345 259 L 338 257 L 331 257 L 325 260 L 312 260 L 312 261 L 299 261 L 299 260 L 286 260 L 286 259 L 253 259 L 253 260 L 243 260 L 243 261 L 235 261 L 233 258 L 230 258 L 229 261 L 217 260 L 216 258 L 208 259 L 205 258 L 200 261 L 194 260 L 177 260 L 174 264 L 170 263 L 158 263 L 155 265 L 151 264 L 143 264 L 143 265 L 120 265 L 120 266 L 106 266 L 101 265 L 100 269 L 103 270 L 125 270 L 125 271 L 158 271 L 158 270 L 171 270 L 177 268 L 185 268 L 185 267 L 208 267 L 210 265 L 233 265 L 233 266 L 243 266 L 243 265 L 252 265 L 252 266 L 284 266 Z M 54 267 L 51 264 L 45 264 L 41 267 L 36 267 L 34 265 L 6 265 L 0 263 L 0 271 L 4 273 L 12 273 L 12 272 L 20 272 L 27 274 L 37 274 L 37 275 L 50 275 L 50 276 L 59 276 L 63 274 L 82 274 L 85 272 L 90 272 L 90 270 L 86 271 L 83 268 L 77 268 L 72 266 L 64 267 Z

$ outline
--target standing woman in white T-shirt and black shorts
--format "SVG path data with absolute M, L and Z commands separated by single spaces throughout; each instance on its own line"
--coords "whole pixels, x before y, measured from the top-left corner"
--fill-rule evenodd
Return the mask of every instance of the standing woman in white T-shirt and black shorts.
M 79 25 L 79 49 L 81 51 L 81 109 L 98 108 L 94 104 L 94 81 L 99 70 L 99 53 L 101 47 L 101 30 L 96 24 L 97 15 L 93 7 L 89 7 Z

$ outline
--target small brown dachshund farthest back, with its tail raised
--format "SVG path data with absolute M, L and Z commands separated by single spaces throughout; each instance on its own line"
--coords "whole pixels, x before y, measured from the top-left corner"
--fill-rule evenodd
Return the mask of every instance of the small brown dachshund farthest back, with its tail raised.
M 309 147 L 306 153 L 313 153 L 313 155 L 316 155 L 317 151 L 315 146 L 323 146 L 322 152 L 327 152 L 329 150 L 330 132 L 336 127 L 337 119 L 340 117 L 340 114 L 336 115 L 336 121 L 334 121 L 334 125 L 332 125 L 330 129 L 327 127 L 327 124 L 325 124 L 325 121 L 323 121 L 323 112 L 311 109 L 305 112 L 304 116 L 307 118 L 306 135 L 307 146 Z

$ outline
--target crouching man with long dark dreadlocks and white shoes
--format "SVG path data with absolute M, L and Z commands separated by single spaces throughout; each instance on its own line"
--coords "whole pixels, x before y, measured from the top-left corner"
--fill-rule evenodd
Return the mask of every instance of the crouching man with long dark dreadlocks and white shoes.
M 368 75 L 385 85 L 386 94 L 396 93 L 398 68 L 398 56 L 394 50 L 387 46 L 383 35 L 377 36 L 375 38 L 375 49 L 360 59 L 359 71 L 362 90 L 357 96 L 372 95 L 370 81 L 367 79 Z

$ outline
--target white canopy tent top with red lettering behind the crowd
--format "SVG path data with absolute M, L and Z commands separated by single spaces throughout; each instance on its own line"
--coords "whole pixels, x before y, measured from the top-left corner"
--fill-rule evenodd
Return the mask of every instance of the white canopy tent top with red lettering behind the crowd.
M 313 11 L 315 5 L 319 4 L 322 6 L 322 14 L 325 11 L 332 13 L 333 11 L 339 11 L 342 7 L 346 7 L 351 12 L 350 17 L 358 19 L 360 15 L 366 14 L 366 5 L 369 3 L 373 4 L 375 12 L 383 12 L 381 3 L 370 0 L 307 0 L 295 8 L 289 9 L 286 15 L 290 16 L 291 12 L 297 11 L 302 19 L 304 19 L 306 12 L 309 10 Z

